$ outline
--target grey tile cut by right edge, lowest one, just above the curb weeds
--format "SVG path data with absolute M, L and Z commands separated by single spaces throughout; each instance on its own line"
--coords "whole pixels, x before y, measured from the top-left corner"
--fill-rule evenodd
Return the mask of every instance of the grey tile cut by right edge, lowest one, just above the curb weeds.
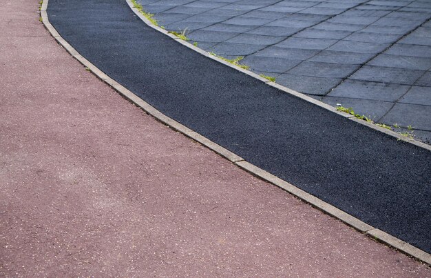
M 431 130 L 431 106 L 410 103 L 396 103 L 381 122 L 409 126 L 421 130 Z

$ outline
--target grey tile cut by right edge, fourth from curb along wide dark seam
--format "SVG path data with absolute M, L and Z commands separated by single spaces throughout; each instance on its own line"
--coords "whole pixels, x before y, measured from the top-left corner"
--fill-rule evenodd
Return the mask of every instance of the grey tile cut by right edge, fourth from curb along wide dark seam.
M 413 57 L 393 54 L 379 54 L 367 63 L 370 66 L 388 68 L 407 68 L 410 70 L 428 70 L 431 68 L 431 57 Z

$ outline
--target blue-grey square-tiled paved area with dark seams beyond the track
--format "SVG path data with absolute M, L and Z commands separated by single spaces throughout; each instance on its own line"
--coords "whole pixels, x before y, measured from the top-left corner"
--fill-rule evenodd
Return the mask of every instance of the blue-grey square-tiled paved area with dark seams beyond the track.
M 204 50 L 431 140 L 431 1 L 137 0 Z

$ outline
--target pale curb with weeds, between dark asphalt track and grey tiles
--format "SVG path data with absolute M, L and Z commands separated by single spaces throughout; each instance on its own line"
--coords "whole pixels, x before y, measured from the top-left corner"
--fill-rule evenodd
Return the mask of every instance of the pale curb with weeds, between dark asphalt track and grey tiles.
M 390 135 L 392 137 L 397 138 L 397 140 L 399 141 L 406 141 L 408 143 L 412 143 L 413 145 L 419 146 L 421 148 L 425 148 L 427 150 L 431 150 L 431 145 L 428 145 L 426 143 L 422 143 L 421 141 L 417 141 L 415 139 L 411 139 L 409 137 L 405 137 L 403 135 L 400 135 L 399 133 L 392 131 L 392 130 L 388 130 L 386 128 L 381 128 L 380 126 L 368 123 L 364 120 L 358 120 L 355 116 L 347 114 L 346 112 L 342 112 L 337 110 L 335 107 L 330 106 L 329 104 L 326 104 L 322 101 L 318 101 L 317 99 L 313 99 L 312 97 L 308 97 L 308 95 L 304 95 L 301 92 L 297 92 L 295 90 L 289 89 L 285 86 L 282 86 L 280 84 L 277 84 L 273 81 L 269 81 L 268 79 L 261 77 L 260 75 L 257 75 L 255 72 L 251 72 L 250 70 L 245 70 L 243 68 L 240 68 L 238 66 L 235 66 L 227 61 L 224 61 L 222 59 L 220 59 L 219 57 L 216 57 L 214 55 L 209 54 L 209 52 L 204 51 L 200 48 L 198 48 L 197 46 L 193 46 L 193 44 L 188 43 L 187 41 L 184 41 L 178 37 L 176 37 L 174 34 L 171 34 L 169 32 L 167 32 L 167 30 L 160 28 L 159 26 L 154 25 L 154 23 L 151 23 L 151 21 L 149 21 L 146 17 L 143 16 L 143 14 L 141 14 L 139 12 L 139 10 L 137 8 L 134 7 L 133 3 L 131 0 L 125 0 L 127 1 L 127 4 L 129 5 L 129 7 L 133 10 L 133 12 L 142 20 L 144 21 L 147 26 L 154 28 L 155 30 L 158 30 L 158 32 L 161 32 L 163 34 L 166 34 L 168 37 L 171 37 L 172 39 L 178 41 L 178 43 L 181 43 L 183 46 L 186 46 L 187 48 L 190 48 L 191 50 L 194 50 L 202 55 L 204 55 L 205 57 L 209 58 L 209 59 L 213 59 L 215 61 L 218 61 L 219 63 L 222 63 L 226 66 L 229 66 L 230 68 L 234 68 L 235 70 L 238 70 L 242 73 L 244 73 L 245 75 L 249 75 L 251 77 L 254 77 L 255 79 L 258 79 L 264 83 L 266 83 L 267 85 L 273 87 L 273 88 L 277 88 L 278 90 L 282 90 L 283 92 L 288 93 L 289 95 L 293 95 L 295 97 L 298 97 L 299 99 L 304 99 L 304 101 L 310 102 L 315 104 L 316 106 L 319 106 L 321 108 L 324 108 L 326 110 L 329 110 L 331 112 L 334 112 L 337 115 L 341 115 L 342 117 L 346 117 L 348 119 L 351 119 L 353 121 L 356 121 L 357 123 L 361 123 L 364 126 L 368 126 L 369 128 L 372 128 L 374 130 L 378 130 L 380 132 L 385 133 L 386 135 Z

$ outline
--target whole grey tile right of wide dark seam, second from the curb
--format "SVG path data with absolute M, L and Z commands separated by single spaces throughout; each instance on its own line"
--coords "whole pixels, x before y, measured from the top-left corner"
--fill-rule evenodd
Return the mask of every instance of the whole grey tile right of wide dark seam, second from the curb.
M 408 85 L 346 79 L 330 92 L 328 97 L 397 101 L 409 88 Z

